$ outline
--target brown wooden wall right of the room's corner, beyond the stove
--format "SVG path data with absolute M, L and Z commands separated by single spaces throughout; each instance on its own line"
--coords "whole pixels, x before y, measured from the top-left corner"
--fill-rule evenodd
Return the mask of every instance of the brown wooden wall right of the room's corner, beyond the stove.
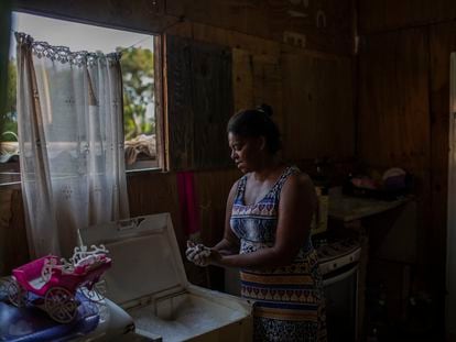
M 416 176 L 421 288 L 443 305 L 456 2 L 359 0 L 358 5 L 359 156 L 372 167 L 400 166 Z

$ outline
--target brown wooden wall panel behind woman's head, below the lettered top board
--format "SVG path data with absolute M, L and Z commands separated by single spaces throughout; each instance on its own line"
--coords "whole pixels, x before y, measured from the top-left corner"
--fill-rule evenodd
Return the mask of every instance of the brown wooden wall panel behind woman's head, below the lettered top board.
M 234 48 L 235 111 L 267 102 L 287 159 L 354 155 L 352 59 L 242 33 L 184 23 L 169 34 Z

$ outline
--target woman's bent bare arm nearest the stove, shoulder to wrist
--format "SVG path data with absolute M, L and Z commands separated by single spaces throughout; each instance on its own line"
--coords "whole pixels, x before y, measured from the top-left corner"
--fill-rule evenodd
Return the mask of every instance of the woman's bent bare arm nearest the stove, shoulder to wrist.
M 290 176 L 281 192 L 274 245 L 237 255 L 213 253 L 209 262 L 221 266 L 247 268 L 291 264 L 310 234 L 316 205 L 315 188 L 308 176 L 304 174 Z

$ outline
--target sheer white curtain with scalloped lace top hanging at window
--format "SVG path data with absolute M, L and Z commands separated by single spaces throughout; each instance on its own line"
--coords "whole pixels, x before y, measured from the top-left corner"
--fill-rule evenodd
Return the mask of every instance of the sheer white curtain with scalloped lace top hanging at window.
M 129 216 L 118 54 L 17 33 L 18 131 L 31 255 L 70 255 L 77 229 Z

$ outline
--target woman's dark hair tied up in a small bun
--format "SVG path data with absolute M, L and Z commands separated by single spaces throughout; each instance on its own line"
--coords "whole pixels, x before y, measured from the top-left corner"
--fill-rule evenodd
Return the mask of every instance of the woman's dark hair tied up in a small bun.
M 268 104 L 261 104 L 256 109 L 242 109 L 229 119 L 227 132 L 243 137 L 264 136 L 268 151 L 275 154 L 282 148 L 282 142 L 271 115 L 272 108 Z

